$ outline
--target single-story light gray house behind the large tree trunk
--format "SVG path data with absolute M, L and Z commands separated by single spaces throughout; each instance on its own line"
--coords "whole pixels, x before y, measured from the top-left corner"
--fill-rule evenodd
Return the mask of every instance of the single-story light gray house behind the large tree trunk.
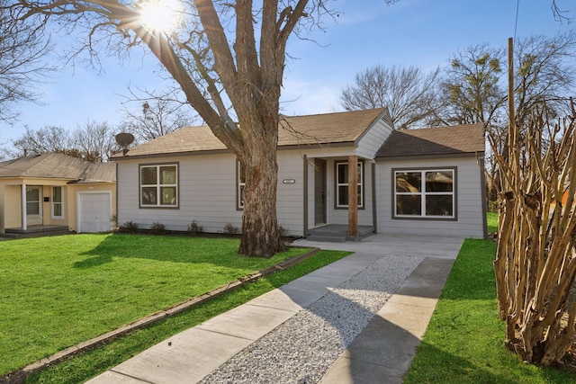
M 335 226 L 352 237 L 485 237 L 484 147 L 482 124 L 394 130 L 385 109 L 283 117 L 278 224 L 309 238 Z M 178 129 L 113 160 L 119 225 L 241 228 L 243 172 L 208 127 Z

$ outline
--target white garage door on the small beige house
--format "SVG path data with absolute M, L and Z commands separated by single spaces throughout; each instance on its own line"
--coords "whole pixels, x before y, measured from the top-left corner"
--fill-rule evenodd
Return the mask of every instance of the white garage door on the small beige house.
M 78 193 L 78 233 L 109 231 L 111 216 L 112 193 Z

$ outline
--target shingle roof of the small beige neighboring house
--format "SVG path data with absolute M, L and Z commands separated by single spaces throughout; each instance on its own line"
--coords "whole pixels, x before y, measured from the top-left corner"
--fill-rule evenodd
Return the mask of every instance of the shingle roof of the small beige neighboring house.
M 73 156 L 48 153 L 0 162 L 0 177 L 64 179 L 71 183 L 116 181 L 113 163 L 91 163 Z

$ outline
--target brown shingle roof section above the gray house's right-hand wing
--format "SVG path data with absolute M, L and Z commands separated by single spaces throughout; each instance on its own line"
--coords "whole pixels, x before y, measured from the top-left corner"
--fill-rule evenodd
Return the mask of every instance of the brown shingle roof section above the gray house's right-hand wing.
M 484 124 L 394 130 L 376 157 L 437 156 L 483 152 Z

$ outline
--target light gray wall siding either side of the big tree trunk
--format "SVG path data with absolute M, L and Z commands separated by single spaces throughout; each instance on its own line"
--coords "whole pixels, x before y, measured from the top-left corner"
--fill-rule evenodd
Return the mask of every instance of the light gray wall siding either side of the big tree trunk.
M 139 165 L 173 163 L 178 165 L 178 207 L 141 208 Z M 302 236 L 302 157 L 298 151 L 280 151 L 278 163 L 278 224 L 287 230 L 288 235 Z M 139 228 L 148 229 L 159 222 L 167 230 L 185 231 L 195 220 L 204 232 L 209 233 L 222 232 L 227 224 L 241 229 L 236 166 L 236 157 L 229 153 L 118 162 L 118 224 L 121 226 L 133 221 Z

